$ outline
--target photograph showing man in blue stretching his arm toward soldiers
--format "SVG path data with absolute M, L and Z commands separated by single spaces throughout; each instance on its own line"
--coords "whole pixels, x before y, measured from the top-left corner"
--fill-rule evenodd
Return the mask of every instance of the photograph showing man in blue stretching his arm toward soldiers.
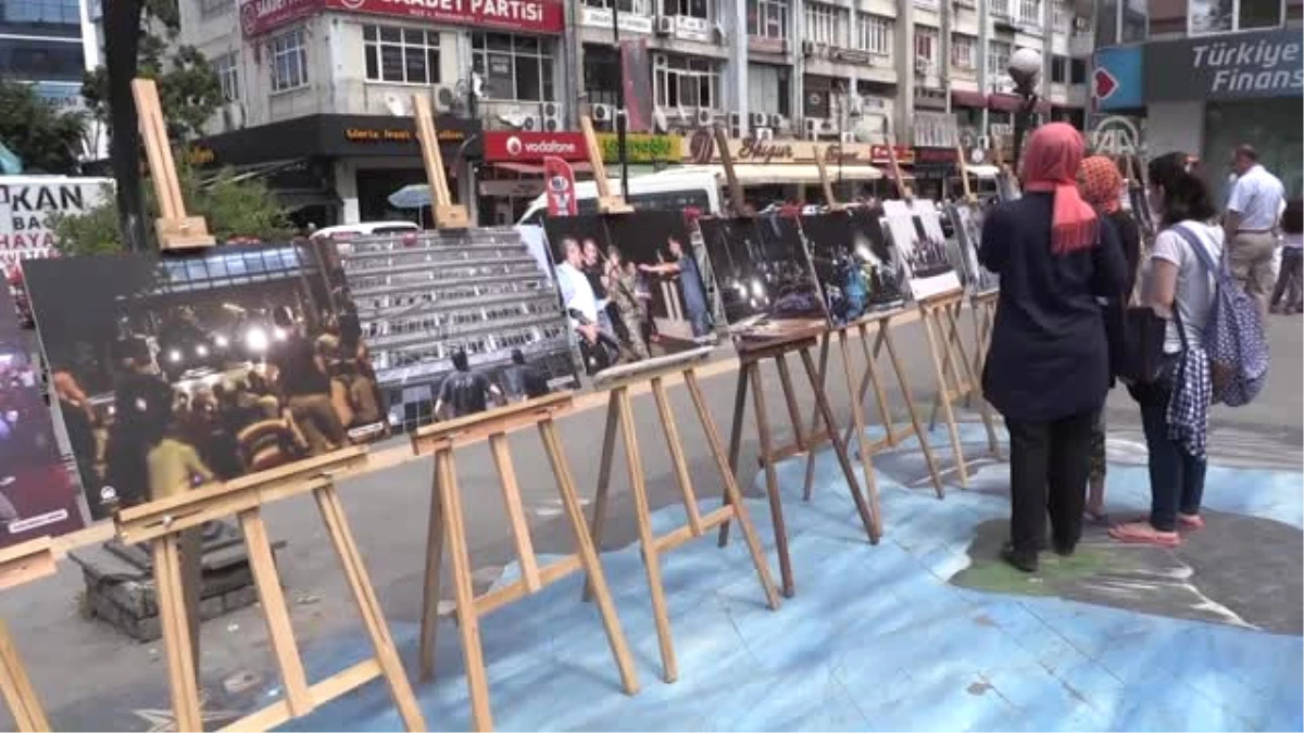
M 589 374 L 716 342 L 683 214 L 554 217 L 544 227 Z

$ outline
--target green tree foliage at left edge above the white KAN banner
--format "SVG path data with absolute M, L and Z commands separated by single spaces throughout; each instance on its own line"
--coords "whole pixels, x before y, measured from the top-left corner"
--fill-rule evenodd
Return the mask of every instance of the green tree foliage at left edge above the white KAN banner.
M 40 98 L 31 85 L 0 80 L 0 142 L 34 173 L 76 173 L 86 117 Z

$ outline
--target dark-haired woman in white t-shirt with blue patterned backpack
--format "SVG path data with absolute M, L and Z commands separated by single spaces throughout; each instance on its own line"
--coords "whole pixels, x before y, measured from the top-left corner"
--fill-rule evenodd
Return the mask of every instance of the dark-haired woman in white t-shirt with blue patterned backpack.
M 1213 383 L 1204 350 L 1213 309 L 1214 274 L 1201 261 L 1223 257 L 1223 232 L 1209 187 L 1189 170 L 1184 153 L 1150 162 L 1151 206 L 1162 214 L 1145 279 L 1145 303 L 1168 317 L 1163 368 L 1151 383 L 1133 385 L 1150 451 L 1150 516 L 1110 530 L 1124 543 L 1176 546 L 1179 528 L 1204 527 L 1205 440 Z

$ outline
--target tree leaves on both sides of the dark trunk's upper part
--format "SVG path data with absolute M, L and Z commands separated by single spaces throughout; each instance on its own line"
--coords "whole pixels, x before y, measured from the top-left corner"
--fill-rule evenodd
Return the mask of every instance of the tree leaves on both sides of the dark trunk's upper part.
M 177 0 L 145 0 L 140 21 L 136 69 L 132 77 L 158 82 L 159 104 L 173 141 L 203 134 L 203 124 L 222 107 L 222 85 L 203 53 L 193 46 L 176 43 L 180 35 Z M 87 72 L 82 95 L 96 119 L 110 125 L 108 70 Z

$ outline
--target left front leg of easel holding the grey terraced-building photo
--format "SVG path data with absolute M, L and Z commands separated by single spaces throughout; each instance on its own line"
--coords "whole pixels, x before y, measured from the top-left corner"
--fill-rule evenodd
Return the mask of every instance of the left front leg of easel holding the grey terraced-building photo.
M 471 584 L 471 553 L 467 548 L 462 496 L 451 450 L 434 454 L 434 471 L 439 476 L 439 502 L 452 557 L 452 593 L 458 609 L 458 630 L 462 633 L 462 657 L 467 666 L 467 687 L 471 691 L 471 720 L 477 733 L 489 733 L 493 730 L 489 678 L 485 674 L 484 647 L 480 644 L 480 613 L 476 610 L 475 587 Z

